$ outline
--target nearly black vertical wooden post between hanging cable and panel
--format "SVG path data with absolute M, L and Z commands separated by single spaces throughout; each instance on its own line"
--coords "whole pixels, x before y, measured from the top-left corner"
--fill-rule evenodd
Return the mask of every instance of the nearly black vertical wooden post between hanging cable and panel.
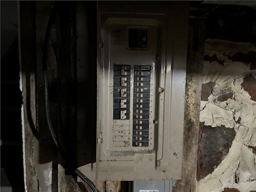
M 79 192 L 72 169 L 77 168 L 76 133 L 76 2 L 56 2 L 58 66 L 58 139 L 66 157 L 59 155 L 58 191 Z

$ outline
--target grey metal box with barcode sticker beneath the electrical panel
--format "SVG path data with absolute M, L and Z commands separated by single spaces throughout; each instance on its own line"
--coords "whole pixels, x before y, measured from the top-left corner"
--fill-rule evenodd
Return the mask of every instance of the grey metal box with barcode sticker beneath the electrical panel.
M 173 180 L 134 181 L 133 192 L 172 192 Z

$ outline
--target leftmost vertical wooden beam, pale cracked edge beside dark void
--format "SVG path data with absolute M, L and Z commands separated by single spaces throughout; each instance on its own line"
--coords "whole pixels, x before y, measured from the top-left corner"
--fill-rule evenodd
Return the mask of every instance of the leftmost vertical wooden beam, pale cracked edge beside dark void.
M 22 140 L 25 190 L 38 191 L 39 182 L 33 162 L 33 145 L 36 139 L 36 76 L 35 76 L 35 29 L 34 3 L 18 2 L 18 38 L 20 58 L 20 82 L 23 96 Z

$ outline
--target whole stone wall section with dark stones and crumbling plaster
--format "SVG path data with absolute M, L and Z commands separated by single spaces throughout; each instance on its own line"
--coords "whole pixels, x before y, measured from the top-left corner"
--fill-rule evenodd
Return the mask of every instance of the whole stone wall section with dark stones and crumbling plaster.
M 208 39 L 198 138 L 198 192 L 256 190 L 256 47 Z

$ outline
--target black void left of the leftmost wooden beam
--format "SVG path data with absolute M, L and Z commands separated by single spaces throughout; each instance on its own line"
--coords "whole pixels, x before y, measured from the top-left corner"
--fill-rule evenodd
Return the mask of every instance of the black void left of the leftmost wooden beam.
M 1 1 L 1 192 L 23 192 L 17 1 Z

